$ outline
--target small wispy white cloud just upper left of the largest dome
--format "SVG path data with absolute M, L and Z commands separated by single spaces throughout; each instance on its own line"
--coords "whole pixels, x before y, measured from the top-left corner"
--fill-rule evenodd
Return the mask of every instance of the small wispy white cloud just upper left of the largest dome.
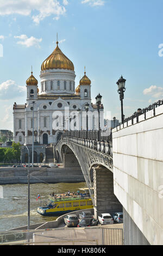
M 17 41 L 17 44 L 25 45 L 26 47 L 35 46 L 40 48 L 40 42 L 42 41 L 42 38 L 37 39 L 34 38 L 34 36 L 30 36 L 30 38 L 28 38 L 27 35 L 18 35 L 14 36 L 14 38 L 20 39 L 20 41 Z

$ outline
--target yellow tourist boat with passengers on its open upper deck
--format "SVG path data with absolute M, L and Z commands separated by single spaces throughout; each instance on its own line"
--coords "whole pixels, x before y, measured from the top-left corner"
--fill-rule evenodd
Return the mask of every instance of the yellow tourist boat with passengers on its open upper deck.
M 72 211 L 85 210 L 93 208 L 90 196 L 84 194 L 70 196 L 65 194 L 55 194 L 48 197 L 46 206 L 39 206 L 37 212 L 42 216 L 60 216 Z

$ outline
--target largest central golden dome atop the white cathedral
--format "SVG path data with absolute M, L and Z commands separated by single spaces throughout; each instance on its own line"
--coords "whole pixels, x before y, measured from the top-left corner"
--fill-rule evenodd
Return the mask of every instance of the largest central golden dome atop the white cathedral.
M 73 63 L 62 53 L 58 47 L 58 41 L 55 50 L 41 65 L 41 70 L 47 69 L 68 69 L 74 71 Z

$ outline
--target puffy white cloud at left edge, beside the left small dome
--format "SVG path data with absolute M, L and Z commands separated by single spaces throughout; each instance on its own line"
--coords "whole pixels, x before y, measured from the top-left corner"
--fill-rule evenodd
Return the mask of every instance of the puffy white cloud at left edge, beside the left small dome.
M 0 99 L 10 100 L 16 97 L 21 97 L 26 93 L 26 86 L 18 86 L 15 81 L 7 80 L 0 84 Z

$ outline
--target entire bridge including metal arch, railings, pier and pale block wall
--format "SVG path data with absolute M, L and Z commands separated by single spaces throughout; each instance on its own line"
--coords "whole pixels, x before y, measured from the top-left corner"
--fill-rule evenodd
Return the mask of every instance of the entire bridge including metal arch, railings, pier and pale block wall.
M 81 167 L 96 215 L 123 208 L 125 245 L 163 243 L 162 135 L 163 100 L 140 109 L 112 133 L 66 131 L 55 147 L 65 166 Z

